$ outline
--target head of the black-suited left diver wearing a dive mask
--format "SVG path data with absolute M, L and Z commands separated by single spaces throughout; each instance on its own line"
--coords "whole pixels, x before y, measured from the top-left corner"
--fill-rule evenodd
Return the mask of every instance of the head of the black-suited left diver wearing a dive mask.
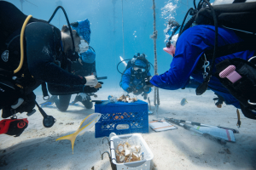
M 75 51 L 79 52 L 80 37 L 77 31 L 73 30 L 73 41 L 75 46 Z M 62 26 L 61 28 L 61 41 L 63 44 L 64 53 L 67 54 L 69 50 L 73 50 L 72 37 L 67 26 Z

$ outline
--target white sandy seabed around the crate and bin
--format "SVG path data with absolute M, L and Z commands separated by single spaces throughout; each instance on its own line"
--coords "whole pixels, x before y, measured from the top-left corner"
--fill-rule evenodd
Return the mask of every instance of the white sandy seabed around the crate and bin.
M 38 103 L 43 99 L 38 93 Z M 122 91 L 101 90 L 98 99 L 107 99 L 108 95 L 119 96 Z M 153 106 L 153 95 L 149 94 Z M 202 96 L 195 95 L 195 89 L 177 91 L 160 90 L 159 118 L 164 116 L 201 122 L 223 127 L 236 127 L 236 108 L 223 105 L 218 109 L 212 100 L 215 95 L 207 91 Z M 74 96 L 73 96 L 74 98 Z M 181 99 L 186 98 L 188 104 L 181 106 Z M 140 97 L 139 99 L 142 99 Z M 0 159 L 8 165 L 0 169 L 111 169 L 107 154 L 102 161 L 101 153 L 108 150 L 107 141 L 95 139 L 94 127 L 76 139 L 74 154 L 69 140 L 55 139 L 73 133 L 79 123 L 94 112 L 94 108 L 86 110 L 82 104 L 69 106 L 67 112 L 60 112 L 55 105 L 44 107 L 44 111 L 57 120 L 55 125 L 45 128 L 42 116 L 37 111 L 28 117 L 29 125 L 18 138 L 0 135 Z M 26 114 L 18 115 L 25 118 Z M 156 115 L 149 116 L 152 120 Z M 73 122 L 73 125 L 67 123 Z M 240 133 L 235 134 L 236 143 L 225 146 L 195 135 L 183 127 L 177 130 L 155 133 L 143 133 L 143 138 L 154 153 L 152 169 L 256 169 L 256 134 L 255 121 L 241 114 Z

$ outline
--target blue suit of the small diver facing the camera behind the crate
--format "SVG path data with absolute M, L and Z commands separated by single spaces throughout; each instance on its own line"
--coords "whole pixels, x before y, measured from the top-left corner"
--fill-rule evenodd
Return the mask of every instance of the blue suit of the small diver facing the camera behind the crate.
M 121 88 L 123 88 L 125 90 L 125 92 L 127 92 L 127 88 L 129 87 L 134 87 L 137 90 L 143 88 L 142 86 L 142 82 L 143 82 L 143 78 L 139 78 L 137 79 L 137 77 L 133 78 L 133 81 L 131 82 L 131 72 L 132 72 L 132 67 L 128 68 L 123 77 L 122 77 L 122 81 L 120 82 L 120 86 Z M 151 76 L 150 72 L 148 72 L 147 76 Z M 130 84 L 131 82 L 131 84 Z M 151 92 L 151 88 L 149 88 L 148 92 L 145 92 L 146 94 L 149 94 Z

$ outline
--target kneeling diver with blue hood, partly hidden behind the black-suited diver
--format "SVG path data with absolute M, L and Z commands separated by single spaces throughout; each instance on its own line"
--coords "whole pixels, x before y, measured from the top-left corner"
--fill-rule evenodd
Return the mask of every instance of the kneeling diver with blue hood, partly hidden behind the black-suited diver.
M 71 23 L 73 30 L 79 33 L 79 37 L 84 39 L 84 42 L 90 43 L 90 21 L 88 19 Z M 71 65 L 71 71 L 73 75 L 80 77 L 86 77 L 90 75 L 96 76 L 96 54 L 93 48 L 88 49 L 84 53 L 79 54 L 79 59 L 73 61 Z M 93 104 L 90 102 L 90 96 L 95 95 L 79 93 L 73 101 L 73 105 L 80 101 L 87 109 L 91 109 Z M 56 107 L 60 111 L 67 111 L 71 94 L 53 95 L 46 102 L 42 103 L 42 106 L 52 105 L 55 103 Z

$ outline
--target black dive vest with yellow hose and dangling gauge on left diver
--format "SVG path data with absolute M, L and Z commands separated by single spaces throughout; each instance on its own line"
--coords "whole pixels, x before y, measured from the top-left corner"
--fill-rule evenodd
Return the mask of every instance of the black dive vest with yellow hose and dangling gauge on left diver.
M 0 1 L 0 110 L 2 109 L 2 117 L 6 118 L 14 115 L 17 112 L 27 112 L 30 116 L 35 112 L 33 110 L 36 102 L 36 96 L 33 94 L 33 90 L 38 88 L 42 83 L 32 77 L 28 71 L 28 66 L 26 63 L 26 40 L 23 37 L 24 30 L 27 24 L 32 22 L 43 22 L 49 25 L 50 20 L 53 19 L 57 10 L 61 8 L 64 12 L 66 19 L 67 14 L 61 6 L 55 9 L 54 14 L 52 14 L 49 21 L 38 20 L 31 18 L 32 16 L 26 16 L 18 8 L 16 8 L 12 3 Z M 25 20 L 25 22 L 24 22 Z M 24 23 L 23 23 L 24 22 Z M 67 25 L 71 33 L 72 42 L 73 34 L 71 31 L 71 26 L 67 19 Z M 51 25 L 49 25 L 51 26 Z M 22 31 L 20 33 L 22 27 Z M 65 69 L 67 63 L 71 63 L 71 59 L 78 57 L 79 55 L 75 53 L 74 42 L 73 42 L 73 52 L 71 54 L 71 59 L 63 55 L 61 48 L 61 31 L 55 26 L 52 27 L 52 34 L 54 39 L 54 58 L 57 65 Z M 24 45 L 22 47 L 22 45 Z M 21 48 L 20 48 L 21 46 Z M 20 57 L 20 51 L 24 52 L 24 55 Z M 22 54 L 22 53 L 21 53 Z M 75 56 L 75 57 L 73 57 Z M 23 60 L 24 59 L 24 60 Z M 20 65 L 21 64 L 21 65 Z M 14 71 L 14 68 L 19 65 L 19 69 Z M 18 70 L 18 71 L 17 71 Z M 45 82 L 42 83 L 43 93 L 47 94 L 47 89 Z M 48 94 L 47 94 L 48 95 Z M 55 123 L 55 118 L 53 116 L 48 116 L 42 108 L 38 109 L 44 116 L 44 127 L 51 127 Z

